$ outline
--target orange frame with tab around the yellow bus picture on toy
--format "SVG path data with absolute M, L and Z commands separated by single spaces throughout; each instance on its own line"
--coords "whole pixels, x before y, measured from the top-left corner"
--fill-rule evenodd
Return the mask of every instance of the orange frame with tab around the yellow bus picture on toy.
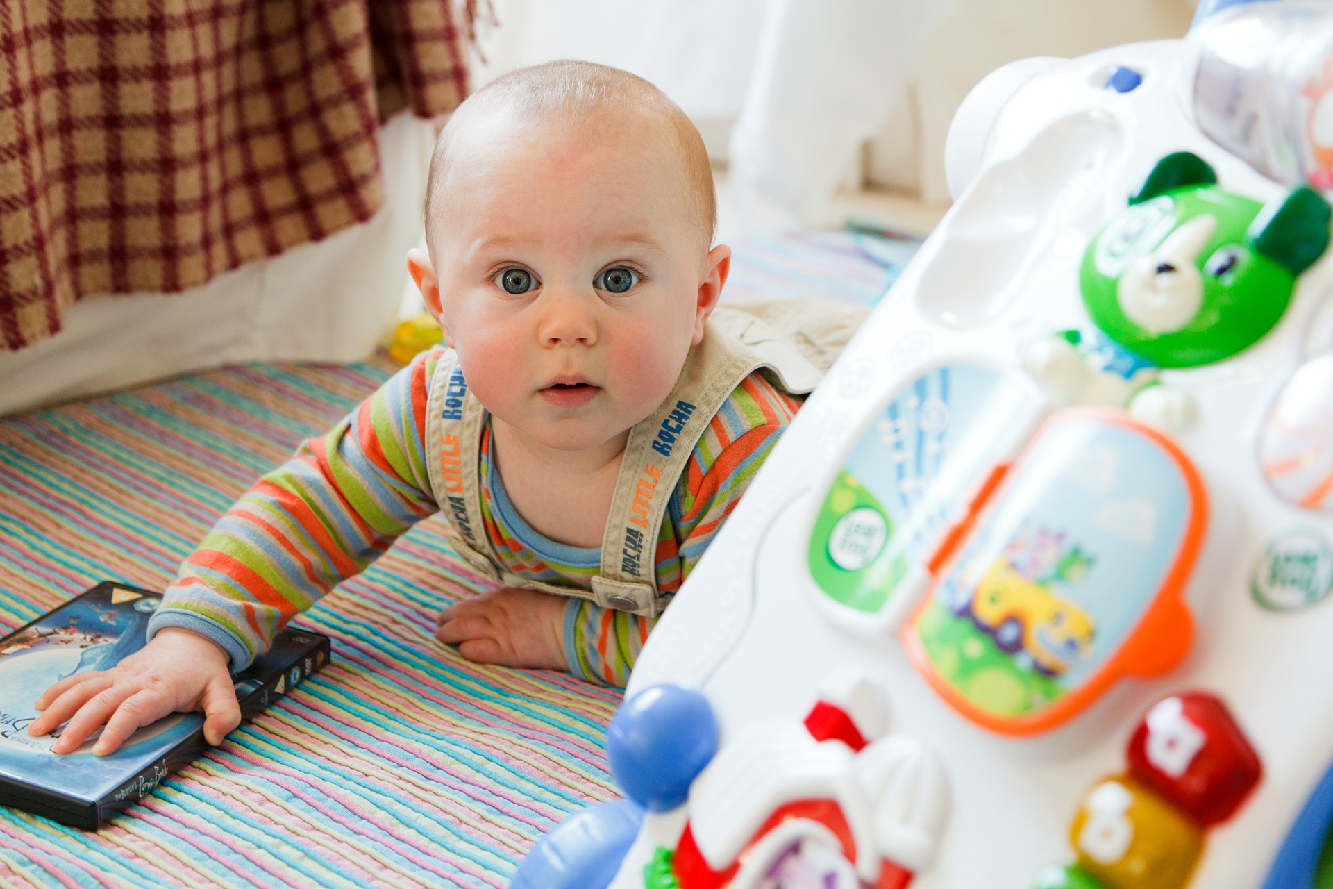
M 1061 694 L 1053 704 L 1041 712 L 1028 716 L 997 716 L 976 706 L 970 698 L 961 694 L 952 684 L 945 681 L 938 674 L 934 669 L 934 664 L 925 652 L 925 645 L 916 633 L 917 621 L 921 618 L 922 612 L 929 608 L 930 602 L 934 601 L 934 590 L 940 585 L 940 580 L 946 576 L 945 570 L 932 572 L 934 574 L 934 580 L 930 584 L 930 589 L 921 598 L 921 604 L 917 605 L 912 618 L 906 622 L 901 632 L 902 644 L 908 650 L 908 656 L 936 693 L 948 701 L 953 709 L 958 710 L 973 722 L 1001 734 L 1036 734 L 1038 732 L 1056 728 L 1061 722 L 1065 722 L 1078 714 L 1084 708 L 1101 697 L 1117 680 L 1125 676 L 1160 676 L 1173 669 L 1177 664 L 1180 664 L 1181 658 L 1185 657 L 1185 653 L 1189 650 L 1194 640 L 1194 621 L 1189 612 L 1189 606 L 1184 601 L 1184 593 L 1185 586 L 1189 584 L 1189 578 L 1193 574 L 1194 564 L 1198 560 L 1198 553 L 1202 549 L 1204 537 L 1208 530 L 1208 490 L 1204 486 L 1204 480 L 1200 477 L 1194 464 L 1174 441 L 1152 427 L 1138 423 L 1129 415 L 1120 411 L 1070 408 L 1052 415 L 1037 429 L 1037 433 L 1032 437 L 1028 446 L 1024 449 L 1024 453 L 1014 460 L 1012 465 L 1021 465 L 1024 458 L 1028 456 L 1028 452 L 1032 450 L 1033 444 L 1040 441 L 1041 436 L 1045 435 L 1052 427 L 1061 423 L 1089 419 L 1128 427 L 1160 445 L 1161 449 L 1169 454 L 1180 468 L 1190 497 L 1189 520 L 1185 526 L 1185 534 L 1181 540 L 1180 549 L 1176 554 L 1176 561 L 1166 572 L 1166 577 L 1164 578 L 1161 588 L 1157 590 L 1153 604 L 1144 612 L 1142 617 L 1140 617 L 1138 625 L 1126 634 L 1120 650 L 1108 657 L 1101 669 L 1089 676 L 1082 684 Z M 1005 484 L 996 485 L 993 488 L 993 494 L 1002 492 L 1013 478 L 1014 473 L 1006 473 L 1004 480 Z M 988 497 L 986 506 L 992 502 L 998 502 L 1000 500 L 1001 498 L 997 496 Z M 969 513 L 972 513 L 972 510 L 969 510 Z M 978 508 L 974 514 L 980 517 L 982 509 Z M 972 514 L 969 514 L 969 518 L 972 518 Z M 969 521 L 968 528 L 970 529 L 976 524 L 977 521 L 974 520 Z M 942 554 L 942 557 L 938 557 L 937 560 L 932 560 L 937 561 L 941 569 L 949 566 L 962 549 L 962 534 L 958 537 L 958 540 L 953 541 L 954 545 L 950 548 L 950 552 Z

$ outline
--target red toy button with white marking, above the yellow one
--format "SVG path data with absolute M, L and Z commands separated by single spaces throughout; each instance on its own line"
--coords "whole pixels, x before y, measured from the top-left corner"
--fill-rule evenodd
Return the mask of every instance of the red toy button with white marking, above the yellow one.
M 1264 773 L 1220 700 L 1190 692 L 1158 701 L 1129 740 L 1129 772 L 1201 825 L 1225 821 Z

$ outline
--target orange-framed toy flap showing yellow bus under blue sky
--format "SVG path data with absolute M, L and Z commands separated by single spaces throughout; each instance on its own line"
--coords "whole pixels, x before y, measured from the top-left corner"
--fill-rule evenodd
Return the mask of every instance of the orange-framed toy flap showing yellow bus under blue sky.
M 1160 432 L 1056 412 L 938 560 L 904 628 L 908 653 L 973 721 L 1054 728 L 1118 677 L 1158 676 L 1189 649 L 1182 592 L 1206 514 L 1202 480 Z

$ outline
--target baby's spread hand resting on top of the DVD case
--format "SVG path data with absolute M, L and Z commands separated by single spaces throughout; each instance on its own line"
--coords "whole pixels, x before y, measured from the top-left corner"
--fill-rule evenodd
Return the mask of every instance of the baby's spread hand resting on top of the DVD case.
M 228 660 L 199 633 L 163 629 L 112 669 L 75 673 L 48 688 L 37 698 L 41 714 L 28 724 L 28 733 L 45 734 L 69 720 L 51 748 L 69 753 L 105 724 L 92 752 L 107 756 L 143 725 L 169 713 L 204 710 L 204 738 L 221 744 L 241 721 Z

